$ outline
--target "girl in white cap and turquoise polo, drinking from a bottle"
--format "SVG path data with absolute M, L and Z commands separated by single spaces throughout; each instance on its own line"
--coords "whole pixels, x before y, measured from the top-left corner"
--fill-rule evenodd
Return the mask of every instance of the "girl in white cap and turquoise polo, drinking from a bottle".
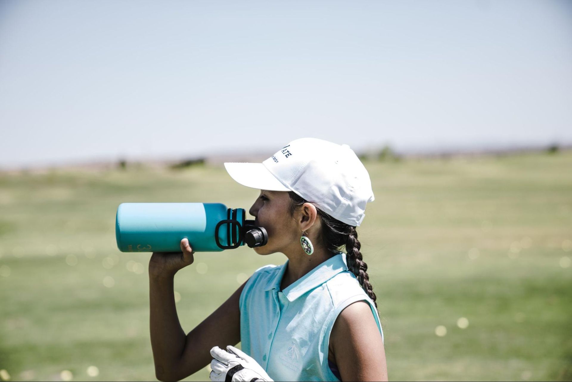
M 268 243 L 255 252 L 280 252 L 287 261 L 256 270 L 185 336 L 173 277 L 193 262 L 192 243 L 182 239 L 181 253 L 153 253 L 157 378 L 180 380 L 210 363 L 213 381 L 387 380 L 376 296 L 355 230 L 374 195 L 352 149 L 303 138 L 263 163 L 225 167 L 240 184 L 260 189 L 249 213 Z M 239 341 L 242 351 L 232 346 Z

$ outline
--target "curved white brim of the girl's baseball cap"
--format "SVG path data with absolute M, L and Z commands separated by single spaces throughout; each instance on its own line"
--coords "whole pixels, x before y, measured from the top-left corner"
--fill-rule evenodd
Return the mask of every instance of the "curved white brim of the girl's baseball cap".
M 291 191 L 262 163 L 225 162 L 224 168 L 232 179 L 243 186 L 268 191 Z

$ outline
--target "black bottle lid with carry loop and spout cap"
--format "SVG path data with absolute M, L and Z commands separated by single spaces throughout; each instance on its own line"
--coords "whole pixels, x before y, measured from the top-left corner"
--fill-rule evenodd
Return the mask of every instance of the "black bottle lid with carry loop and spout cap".
M 242 208 L 240 209 L 243 210 Z M 217 223 L 215 227 L 216 245 L 223 250 L 238 248 L 243 243 L 243 241 L 251 248 L 266 245 L 266 243 L 268 243 L 268 233 L 264 227 L 255 226 L 254 220 L 245 220 L 244 218 L 246 212 L 244 210 L 242 219 L 240 219 L 242 222 L 244 222 L 244 226 L 242 226 L 240 221 L 236 219 L 236 215 L 239 212 L 238 210 L 239 209 L 233 210 L 232 208 L 228 208 L 227 219 L 221 220 L 219 223 Z M 223 224 L 227 225 L 227 245 L 222 245 L 220 243 L 219 228 Z

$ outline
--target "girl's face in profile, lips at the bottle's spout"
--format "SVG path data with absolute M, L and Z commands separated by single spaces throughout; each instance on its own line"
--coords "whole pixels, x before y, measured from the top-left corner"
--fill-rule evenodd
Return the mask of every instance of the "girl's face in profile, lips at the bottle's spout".
M 264 227 L 268 233 L 268 243 L 254 248 L 257 254 L 285 253 L 300 240 L 296 221 L 288 214 L 289 200 L 287 191 L 260 190 L 259 198 L 248 211 L 255 217 L 255 226 Z

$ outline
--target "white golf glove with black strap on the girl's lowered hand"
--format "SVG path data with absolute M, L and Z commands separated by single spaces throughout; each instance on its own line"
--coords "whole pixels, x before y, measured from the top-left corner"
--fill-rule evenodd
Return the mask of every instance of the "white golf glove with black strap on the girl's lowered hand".
M 228 345 L 227 351 L 215 346 L 210 349 L 210 355 L 214 357 L 209 375 L 213 382 L 274 382 L 251 356 L 235 346 Z

